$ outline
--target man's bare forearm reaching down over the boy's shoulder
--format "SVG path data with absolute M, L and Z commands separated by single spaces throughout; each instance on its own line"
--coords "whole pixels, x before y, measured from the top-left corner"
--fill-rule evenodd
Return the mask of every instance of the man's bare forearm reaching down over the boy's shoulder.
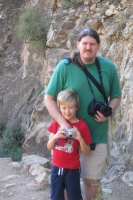
M 57 121 L 57 123 L 61 126 L 61 128 L 69 128 L 70 125 L 68 124 L 66 119 L 62 116 L 61 112 L 57 107 L 56 99 L 49 94 L 45 94 L 44 102 L 48 109 L 49 114 Z

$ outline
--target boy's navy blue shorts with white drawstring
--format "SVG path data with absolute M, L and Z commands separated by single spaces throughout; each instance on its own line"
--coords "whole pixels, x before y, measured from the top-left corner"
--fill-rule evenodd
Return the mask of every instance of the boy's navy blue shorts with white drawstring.
M 52 166 L 51 188 L 52 200 L 65 200 L 64 190 L 69 200 L 82 200 L 80 189 L 80 169 L 66 169 Z

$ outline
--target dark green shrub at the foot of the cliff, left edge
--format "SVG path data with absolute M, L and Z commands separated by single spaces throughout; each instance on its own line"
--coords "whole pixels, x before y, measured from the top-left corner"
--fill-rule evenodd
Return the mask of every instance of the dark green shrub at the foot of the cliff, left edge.
M 0 157 L 11 157 L 13 161 L 20 161 L 23 154 L 24 130 L 15 124 L 4 133 L 0 147 Z

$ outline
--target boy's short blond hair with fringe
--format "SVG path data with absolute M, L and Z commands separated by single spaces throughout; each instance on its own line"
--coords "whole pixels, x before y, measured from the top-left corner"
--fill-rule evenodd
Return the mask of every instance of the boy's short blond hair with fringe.
M 76 108 L 79 108 L 80 103 L 77 93 L 72 89 L 59 92 L 57 95 L 57 106 L 60 108 L 60 105 L 69 103 L 75 103 Z

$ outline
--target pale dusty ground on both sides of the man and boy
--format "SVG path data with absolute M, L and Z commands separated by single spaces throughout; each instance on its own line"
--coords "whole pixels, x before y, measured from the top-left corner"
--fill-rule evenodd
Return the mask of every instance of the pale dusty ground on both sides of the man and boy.
M 11 160 L 0 158 L 0 200 L 50 200 L 49 186 L 35 183 L 34 176 L 21 172 Z M 120 180 L 104 186 L 104 200 L 133 200 L 133 187 Z M 76 200 L 76 199 L 75 199 Z

